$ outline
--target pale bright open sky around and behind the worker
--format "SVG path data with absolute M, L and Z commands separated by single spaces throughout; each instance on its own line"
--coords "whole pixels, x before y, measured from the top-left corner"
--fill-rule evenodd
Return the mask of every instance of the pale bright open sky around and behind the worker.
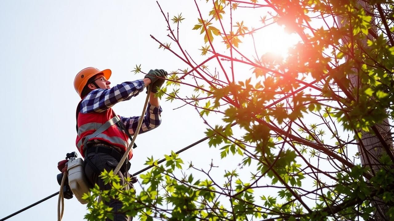
M 160 2 L 170 18 L 181 12 L 186 18 L 180 35 L 183 43 L 202 45 L 202 37 L 191 31 L 198 16 L 193 1 L 188 6 L 182 6 L 180 2 L 184 1 L 180 0 Z M 152 34 L 169 42 L 165 26 L 152 0 L 0 1 L 0 218 L 59 190 L 57 163 L 66 153 L 77 151 L 75 109 L 79 97 L 72 83 L 78 71 L 88 66 L 110 68 L 110 81 L 115 85 L 143 78 L 142 74 L 130 72 L 136 64 L 142 64 L 145 72 L 186 68 L 169 52 L 158 49 L 149 37 Z M 272 41 L 278 39 L 270 37 Z M 270 46 L 268 41 L 260 42 L 262 47 Z M 199 55 L 197 48 L 190 53 Z M 139 115 L 144 99 L 145 93 L 117 104 L 114 110 L 122 116 Z M 143 163 L 151 155 L 162 158 L 204 137 L 206 126 L 193 108 L 173 110 L 182 103 L 161 104 L 162 125 L 138 136 L 131 173 L 144 168 Z M 206 144 L 200 144 L 182 158 L 185 163 L 193 159 L 206 166 L 212 152 Z M 221 163 L 226 165 L 226 161 Z M 233 162 L 227 169 L 235 168 Z M 53 221 L 57 217 L 57 200 L 53 197 L 9 220 Z M 75 198 L 65 200 L 63 220 L 82 220 L 85 208 Z

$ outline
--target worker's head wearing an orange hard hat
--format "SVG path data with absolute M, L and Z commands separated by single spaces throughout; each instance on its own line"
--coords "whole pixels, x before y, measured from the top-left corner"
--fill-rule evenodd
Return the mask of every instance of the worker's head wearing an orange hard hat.
M 97 68 L 85 68 L 78 72 L 74 79 L 74 88 L 81 98 L 97 88 L 110 88 L 111 70 L 100 71 Z

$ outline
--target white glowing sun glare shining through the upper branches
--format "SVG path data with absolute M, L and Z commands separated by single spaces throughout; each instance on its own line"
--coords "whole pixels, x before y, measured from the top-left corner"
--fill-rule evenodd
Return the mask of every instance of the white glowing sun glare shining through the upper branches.
M 294 33 L 288 34 L 282 26 L 276 24 L 264 28 L 262 34 L 262 39 L 260 39 L 262 40 L 261 52 L 263 54 L 273 53 L 283 58 L 287 57 L 288 48 L 300 41 L 298 35 Z

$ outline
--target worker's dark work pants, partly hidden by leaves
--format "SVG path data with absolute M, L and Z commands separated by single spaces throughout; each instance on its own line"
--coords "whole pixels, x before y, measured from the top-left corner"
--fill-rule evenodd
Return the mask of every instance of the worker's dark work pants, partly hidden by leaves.
M 104 180 L 102 180 L 99 175 L 100 172 L 104 171 L 106 169 L 107 171 L 115 170 L 116 166 L 118 165 L 118 161 L 113 158 L 112 156 L 106 154 L 106 153 L 88 153 L 85 158 L 88 158 L 90 162 L 96 167 L 93 168 L 92 165 L 89 163 L 85 164 L 85 175 L 87 180 L 91 184 L 97 184 L 100 187 L 100 190 L 110 190 L 111 186 L 110 184 L 104 185 Z M 99 172 L 98 172 L 99 171 Z M 117 175 L 120 177 L 119 183 L 121 185 L 125 184 L 125 176 L 126 171 L 125 167 L 122 167 L 121 170 L 117 173 Z M 130 176 L 130 175 L 128 175 Z M 127 185 L 127 189 L 132 188 L 132 184 Z M 108 206 L 112 207 L 112 212 L 113 212 L 113 221 L 132 221 L 133 217 L 128 217 L 125 214 L 122 214 L 120 212 L 122 208 L 122 203 L 119 200 L 116 199 L 110 199 L 108 203 L 106 203 Z M 110 219 L 106 219 L 106 221 L 110 221 Z

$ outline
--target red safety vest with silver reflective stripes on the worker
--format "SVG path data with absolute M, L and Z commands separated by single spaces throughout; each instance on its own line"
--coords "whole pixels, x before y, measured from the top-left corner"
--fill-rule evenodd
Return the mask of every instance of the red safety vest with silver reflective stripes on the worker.
M 79 106 L 79 105 L 78 105 Z M 81 153 L 82 157 L 84 156 L 84 142 L 85 137 L 95 133 L 95 131 L 108 120 L 115 116 L 115 112 L 111 108 L 103 111 L 103 112 L 92 112 L 87 114 L 82 114 L 78 112 L 78 134 L 76 136 L 76 147 L 78 151 Z M 121 122 L 122 123 L 122 122 Z M 121 150 L 126 151 L 128 145 L 128 136 L 124 131 L 119 129 L 119 127 L 115 124 L 106 129 L 103 133 L 100 133 L 94 138 L 89 140 L 101 140 L 106 142 L 109 145 L 113 145 L 119 147 Z M 88 140 L 88 141 L 89 141 Z M 128 153 L 128 158 L 131 159 L 133 156 L 132 149 Z

